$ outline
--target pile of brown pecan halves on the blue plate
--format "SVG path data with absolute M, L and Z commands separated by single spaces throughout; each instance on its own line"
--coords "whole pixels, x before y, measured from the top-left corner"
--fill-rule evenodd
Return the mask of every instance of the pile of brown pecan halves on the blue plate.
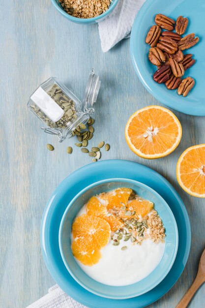
M 191 77 L 181 77 L 195 60 L 192 54 L 184 55 L 182 51 L 194 46 L 199 37 L 195 37 L 195 33 L 181 37 L 188 25 L 188 19 L 182 16 L 175 22 L 170 17 L 157 14 L 155 23 L 146 35 L 146 43 L 151 47 L 148 59 L 158 68 L 153 75 L 154 81 L 159 84 L 165 83 L 169 90 L 178 88 L 177 93 L 186 96 L 194 87 L 195 81 Z M 173 32 L 174 29 L 176 32 Z

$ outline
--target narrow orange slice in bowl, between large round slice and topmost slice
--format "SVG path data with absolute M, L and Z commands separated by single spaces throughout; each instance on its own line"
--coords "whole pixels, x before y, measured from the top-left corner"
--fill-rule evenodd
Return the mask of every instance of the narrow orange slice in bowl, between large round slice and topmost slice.
M 111 231 L 116 231 L 123 226 L 119 219 L 108 213 L 107 208 L 95 197 L 91 197 L 86 206 L 86 213 L 88 215 L 98 216 L 104 218 L 110 225 Z

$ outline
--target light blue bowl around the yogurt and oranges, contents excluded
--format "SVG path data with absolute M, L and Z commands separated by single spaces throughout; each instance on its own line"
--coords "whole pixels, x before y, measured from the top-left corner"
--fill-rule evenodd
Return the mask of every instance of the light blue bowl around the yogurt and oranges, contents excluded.
M 154 208 L 162 218 L 166 230 L 164 254 L 157 267 L 144 279 L 124 286 L 106 285 L 89 277 L 76 262 L 71 250 L 72 222 L 82 206 L 93 195 L 129 187 L 144 199 L 154 203 Z M 148 292 L 158 285 L 171 270 L 178 248 L 178 230 L 175 216 L 165 200 L 152 188 L 129 179 L 107 179 L 93 183 L 81 190 L 66 208 L 59 228 L 59 248 L 62 260 L 70 275 L 88 291 L 106 298 L 127 299 Z

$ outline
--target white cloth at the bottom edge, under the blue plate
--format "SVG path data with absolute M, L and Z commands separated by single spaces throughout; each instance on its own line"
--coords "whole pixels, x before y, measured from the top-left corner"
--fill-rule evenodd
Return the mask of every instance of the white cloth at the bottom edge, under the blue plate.
M 27 308 L 86 308 L 86 306 L 74 301 L 56 284 L 48 290 L 48 294 Z

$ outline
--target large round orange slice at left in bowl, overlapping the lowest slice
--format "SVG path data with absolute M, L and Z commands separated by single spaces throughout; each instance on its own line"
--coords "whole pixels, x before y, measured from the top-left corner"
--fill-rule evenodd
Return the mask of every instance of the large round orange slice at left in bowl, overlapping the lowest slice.
M 100 217 L 83 214 L 76 217 L 72 225 L 73 237 L 84 237 L 102 248 L 108 244 L 110 239 L 110 225 Z

